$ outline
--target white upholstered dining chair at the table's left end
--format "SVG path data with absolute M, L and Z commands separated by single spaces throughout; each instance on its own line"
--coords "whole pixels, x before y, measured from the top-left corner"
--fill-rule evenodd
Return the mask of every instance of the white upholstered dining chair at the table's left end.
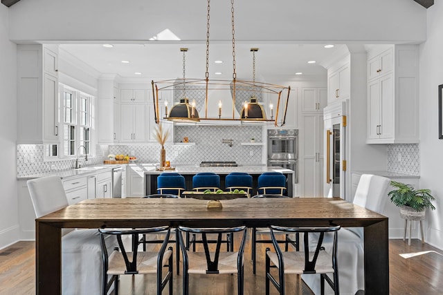
M 37 218 L 68 206 L 60 177 L 36 178 L 28 180 L 27 184 Z M 111 253 L 118 243 L 113 236 L 107 238 Z M 101 274 L 98 229 L 62 230 L 62 294 L 100 294 Z

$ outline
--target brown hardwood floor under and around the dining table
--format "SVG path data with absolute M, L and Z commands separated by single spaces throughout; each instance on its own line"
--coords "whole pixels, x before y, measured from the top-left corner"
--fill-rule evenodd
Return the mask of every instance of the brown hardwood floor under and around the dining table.
M 258 245 L 257 253 L 264 253 L 268 245 Z M 403 258 L 399 254 L 418 251 L 437 251 L 430 245 L 422 245 L 420 240 L 390 240 L 390 294 L 442 294 L 443 289 L 443 256 L 435 253 Z M 245 250 L 244 294 L 264 294 L 264 258 L 257 256 L 257 274 L 252 275 L 251 241 L 248 240 Z M 154 280 L 143 276 L 122 276 L 120 294 L 154 294 Z M 237 276 L 190 276 L 190 294 L 236 294 Z M 288 294 L 312 294 L 300 280 L 293 276 L 287 280 Z M 28 295 L 35 294 L 35 243 L 17 242 L 0 251 L 0 294 Z M 163 292 L 167 294 L 167 290 Z M 174 274 L 174 294 L 181 294 L 181 276 Z M 271 287 L 271 294 L 277 294 Z M 80 294 L 82 295 L 82 294 Z M 85 294 L 89 295 L 89 294 Z

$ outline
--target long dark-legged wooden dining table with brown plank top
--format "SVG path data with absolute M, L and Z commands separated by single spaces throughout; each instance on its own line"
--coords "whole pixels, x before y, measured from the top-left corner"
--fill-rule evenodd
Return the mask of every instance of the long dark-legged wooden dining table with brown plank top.
M 99 227 L 297 227 L 364 228 L 365 293 L 389 294 L 388 218 L 341 198 L 238 198 L 207 209 L 193 198 L 84 200 L 37 218 L 36 294 L 61 294 L 61 229 Z

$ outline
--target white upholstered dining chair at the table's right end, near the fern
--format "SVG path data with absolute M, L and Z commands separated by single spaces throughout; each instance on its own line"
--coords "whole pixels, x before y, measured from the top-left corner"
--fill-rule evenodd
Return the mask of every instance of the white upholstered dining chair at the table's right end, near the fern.
M 379 175 L 363 174 L 357 186 L 353 204 L 365 207 L 377 213 L 383 213 L 387 189 L 390 179 Z M 346 227 L 338 231 L 338 277 L 340 279 L 340 294 L 354 295 L 359 289 L 364 289 L 364 246 L 363 227 Z M 314 240 L 311 241 L 314 244 Z M 332 251 L 332 236 L 325 236 L 325 250 Z M 315 294 L 320 294 L 320 279 L 315 276 L 302 276 L 305 283 Z M 327 293 L 326 293 L 327 294 Z

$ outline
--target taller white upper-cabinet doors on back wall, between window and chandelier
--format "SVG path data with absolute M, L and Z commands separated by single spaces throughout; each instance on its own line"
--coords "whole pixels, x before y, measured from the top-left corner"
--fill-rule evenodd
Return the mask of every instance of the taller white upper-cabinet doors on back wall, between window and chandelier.
M 145 142 L 146 104 L 120 105 L 120 142 Z

